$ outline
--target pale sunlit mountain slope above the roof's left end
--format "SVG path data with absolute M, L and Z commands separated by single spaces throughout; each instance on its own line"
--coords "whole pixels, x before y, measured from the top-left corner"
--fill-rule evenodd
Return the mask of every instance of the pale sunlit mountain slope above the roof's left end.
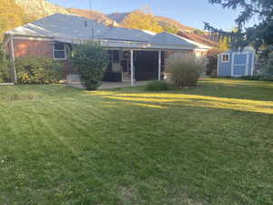
M 69 15 L 66 8 L 52 4 L 46 0 L 15 0 L 15 3 L 24 8 L 26 14 L 35 18 L 54 15 L 56 13 Z

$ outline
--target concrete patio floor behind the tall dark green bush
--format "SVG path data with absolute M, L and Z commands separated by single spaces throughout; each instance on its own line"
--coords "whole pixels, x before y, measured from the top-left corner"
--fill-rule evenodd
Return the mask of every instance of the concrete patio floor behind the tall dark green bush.
M 149 81 L 136 81 L 134 86 L 145 86 Z M 69 87 L 77 87 L 84 88 L 81 83 L 66 83 L 66 86 Z M 131 81 L 126 82 L 103 82 L 102 85 L 98 89 L 109 89 L 109 88 L 117 88 L 117 87 L 131 87 Z

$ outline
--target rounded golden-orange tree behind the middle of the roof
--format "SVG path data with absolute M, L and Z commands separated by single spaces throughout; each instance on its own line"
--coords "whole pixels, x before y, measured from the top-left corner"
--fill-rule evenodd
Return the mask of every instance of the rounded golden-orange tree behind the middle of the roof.
M 127 15 L 122 21 L 122 25 L 128 28 L 144 29 L 155 33 L 160 33 L 163 31 L 163 28 L 158 24 L 157 18 L 154 15 L 148 14 L 142 10 L 136 10 Z

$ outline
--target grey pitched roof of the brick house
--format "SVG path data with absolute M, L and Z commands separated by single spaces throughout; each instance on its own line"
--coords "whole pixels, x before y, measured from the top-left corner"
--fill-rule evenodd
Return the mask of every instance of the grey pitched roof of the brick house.
M 77 15 L 49 15 L 25 26 L 16 27 L 5 33 L 13 36 L 50 37 L 56 41 L 75 42 L 75 40 L 99 39 L 107 42 L 126 42 L 131 47 L 143 44 L 143 48 L 164 49 L 210 49 L 185 37 L 163 32 L 155 34 L 140 29 L 105 26 L 96 21 Z M 115 46 L 115 44 L 112 44 Z M 108 46 L 111 46 L 108 44 Z M 122 44 L 119 44 L 122 46 Z

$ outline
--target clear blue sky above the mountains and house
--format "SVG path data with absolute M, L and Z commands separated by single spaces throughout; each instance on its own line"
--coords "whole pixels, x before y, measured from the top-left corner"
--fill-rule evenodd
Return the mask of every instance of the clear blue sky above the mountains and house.
M 89 0 L 49 0 L 57 5 L 76 8 L 89 8 Z M 239 11 L 222 9 L 219 5 L 210 5 L 208 0 L 92 0 L 93 9 L 109 14 L 127 12 L 146 5 L 152 8 L 154 15 L 164 15 L 180 23 L 199 29 L 203 22 L 221 29 L 232 29 Z

